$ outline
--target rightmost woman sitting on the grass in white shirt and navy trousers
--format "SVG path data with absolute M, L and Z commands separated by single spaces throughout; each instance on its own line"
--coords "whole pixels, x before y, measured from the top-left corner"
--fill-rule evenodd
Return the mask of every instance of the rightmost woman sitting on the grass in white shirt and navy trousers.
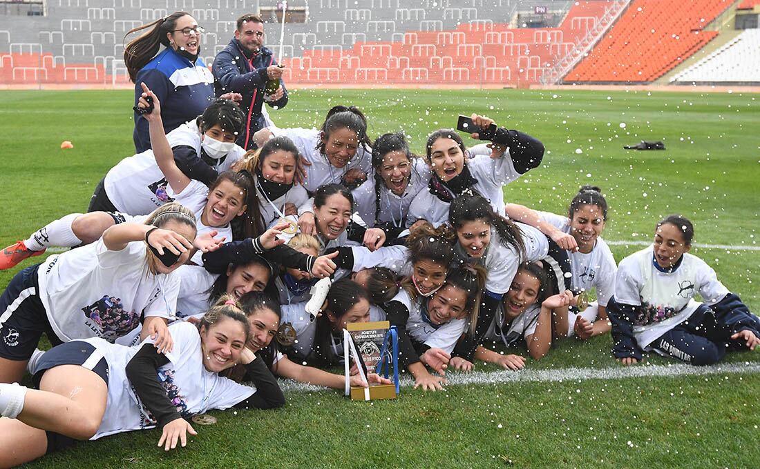
M 620 261 L 607 313 L 613 354 L 622 364 L 636 364 L 644 351 L 654 350 L 710 365 L 729 348 L 760 345 L 760 319 L 705 261 L 689 254 L 692 238 L 692 222 L 667 216 L 657 223 L 652 246 Z M 695 294 L 704 303 L 694 301 Z

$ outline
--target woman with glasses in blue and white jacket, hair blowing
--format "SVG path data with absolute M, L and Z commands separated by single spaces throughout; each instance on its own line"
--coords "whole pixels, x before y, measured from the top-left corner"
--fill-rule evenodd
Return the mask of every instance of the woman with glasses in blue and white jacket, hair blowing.
M 124 64 L 129 79 L 135 83 L 135 105 L 143 93 L 140 83 L 145 83 L 161 102 L 163 130 L 169 133 L 203 114 L 214 101 L 214 76 L 198 57 L 204 30 L 185 11 L 136 27 L 127 35 L 141 30 L 147 31 L 124 48 Z M 166 49 L 157 55 L 162 45 Z M 221 97 L 240 96 L 227 93 Z M 132 137 L 136 153 L 150 149 L 147 120 L 137 112 Z

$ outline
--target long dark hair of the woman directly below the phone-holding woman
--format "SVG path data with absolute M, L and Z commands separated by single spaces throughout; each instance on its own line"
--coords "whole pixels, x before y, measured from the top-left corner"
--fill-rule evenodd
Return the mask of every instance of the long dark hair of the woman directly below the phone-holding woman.
M 521 259 L 524 258 L 525 243 L 520 228 L 511 220 L 494 212 L 488 200 L 479 195 L 463 194 L 451 202 L 448 209 L 448 224 L 455 230 L 460 229 L 467 222 L 481 219 L 496 228 L 496 233 L 499 234 L 504 247 L 514 249 Z

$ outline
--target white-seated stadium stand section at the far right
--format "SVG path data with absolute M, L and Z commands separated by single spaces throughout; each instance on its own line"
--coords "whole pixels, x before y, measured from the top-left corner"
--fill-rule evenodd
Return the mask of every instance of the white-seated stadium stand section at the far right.
M 670 79 L 676 84 L 760 83 L 760 30 L 745 30 L 686 71 Z

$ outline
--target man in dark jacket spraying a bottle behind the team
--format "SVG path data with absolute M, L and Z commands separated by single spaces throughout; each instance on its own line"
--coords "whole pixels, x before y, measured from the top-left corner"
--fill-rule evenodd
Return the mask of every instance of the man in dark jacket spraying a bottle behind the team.
M 237 20 L 235 37 L 214 58 L 214 92 L 241 93 L 240 107 L 245 112 L 245 127 L 237 144 L 246 150 L 255 148 L 253 134 L 265 127 L 261 106 L 264 101 L 274 109 L 287 104 L 283 69 L 277 66 L 271 49 L 264 47 L 264 20 L 258 14 L 244 14 Z M 271 96 L 264 96 L 268 80 L 280 80 Z

